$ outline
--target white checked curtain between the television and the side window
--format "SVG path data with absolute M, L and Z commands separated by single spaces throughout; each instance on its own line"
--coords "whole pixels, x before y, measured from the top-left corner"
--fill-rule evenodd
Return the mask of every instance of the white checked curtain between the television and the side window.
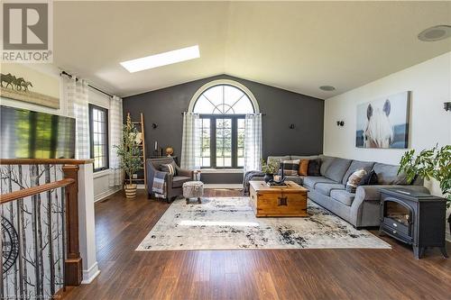
M 89 117 L 87 105 L 87 81 L 63 77 L 64 96 L 68 116 L 75 118 L 75 158 L 89 159 Z

